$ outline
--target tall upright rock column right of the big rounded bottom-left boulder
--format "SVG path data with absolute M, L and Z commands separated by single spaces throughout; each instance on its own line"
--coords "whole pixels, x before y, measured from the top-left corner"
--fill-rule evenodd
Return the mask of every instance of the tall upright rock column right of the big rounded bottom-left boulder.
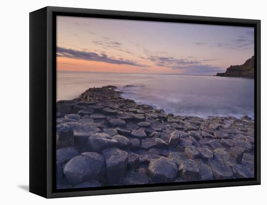
M 102 151 L 106 160 L 107 184 L 120 183 L 127 169 L 128 154 L 118 148 L 107 148 Z

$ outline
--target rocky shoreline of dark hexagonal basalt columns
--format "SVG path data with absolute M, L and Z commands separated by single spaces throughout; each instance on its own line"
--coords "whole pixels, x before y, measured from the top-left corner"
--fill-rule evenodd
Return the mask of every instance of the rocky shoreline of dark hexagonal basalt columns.
M 175 116 L 90 88 L 57 102 L 57 189 L 254 177 L 254 121 Z

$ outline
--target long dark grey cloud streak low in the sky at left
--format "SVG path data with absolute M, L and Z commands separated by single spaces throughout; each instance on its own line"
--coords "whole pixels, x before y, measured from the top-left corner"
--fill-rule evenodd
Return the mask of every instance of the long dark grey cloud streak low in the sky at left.
M 113 57 L 109 57 L 106 54 L 98 54 L 95 52 L 88 52 L 88 51 L 80 51 L 80 50 L 74 50 L 70 48 L 64 48 L 64 47 L 57 47 L 57 56 L 59 57 L 66 57 L 66 58 L 72 58 L 72 59 L 80 59 L 85 61 L 97 61 L 97 62 L 104 62 L 104 63 L 113 63 L 113 64 L 126 64 L 126 65 L 134 65 L 138 67 L 146 68 L 147 65 L 143 65 L 131 60 L 127 59 L 116 59 Z

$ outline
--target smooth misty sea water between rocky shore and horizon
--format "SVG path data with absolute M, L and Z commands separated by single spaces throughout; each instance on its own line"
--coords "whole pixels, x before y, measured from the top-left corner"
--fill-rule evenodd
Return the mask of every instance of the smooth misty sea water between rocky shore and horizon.
M 122 97 L 175 115 L 254 117 L 254 80 L 244 78 L 58 71 L 57 100 L 105 85 L 117 86 Z

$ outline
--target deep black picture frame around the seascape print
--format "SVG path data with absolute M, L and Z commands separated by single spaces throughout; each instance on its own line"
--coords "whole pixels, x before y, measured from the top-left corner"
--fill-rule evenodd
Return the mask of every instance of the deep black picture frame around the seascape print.
M 211 25 L 254 27 L 255 56 L 255 177 L 197 182 L 179 182 L 149 185 L 115 186 L 102 188 L 55 189 L 55 103 L 56 103 L 56 16 L 83 16 L 113 19 L 183 22 Z M 95 9 L 45 7 L 30 13 L 30 192 L 46 198 L 101 194 L 134 193 L 179 189 L 201 189 L 260 185 L 260 20 L 184 16 Z

